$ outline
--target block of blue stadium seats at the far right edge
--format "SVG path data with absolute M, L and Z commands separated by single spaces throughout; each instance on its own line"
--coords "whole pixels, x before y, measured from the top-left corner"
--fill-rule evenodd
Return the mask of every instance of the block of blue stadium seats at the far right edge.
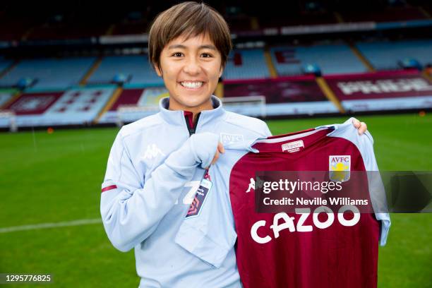
M 399 61 L 404 59 L 416 59 L 423 66 L 432 64 L 432 40 L 357 42 L 356 47 L 376 70 L 399 69 Z

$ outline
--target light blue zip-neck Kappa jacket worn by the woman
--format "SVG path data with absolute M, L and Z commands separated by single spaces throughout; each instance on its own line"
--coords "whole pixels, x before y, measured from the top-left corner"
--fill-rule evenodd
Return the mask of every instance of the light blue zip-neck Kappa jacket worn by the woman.
M 265 122 L 212 102 L 191 137 L 184 112 L 164 98 L 159 113 L 121 128 L 112 145 L 100 212 L 114 247 L 135 248 L 140 287 L 241 287 L 234 244 L 216 268 L 175 242 L 217 142 L 270 136 Z

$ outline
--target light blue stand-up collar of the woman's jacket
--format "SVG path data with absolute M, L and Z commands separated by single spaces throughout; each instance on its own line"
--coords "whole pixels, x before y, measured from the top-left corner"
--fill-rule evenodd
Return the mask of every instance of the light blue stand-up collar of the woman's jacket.
M 216 96 L 212 95 L 212 110 L 201 111 L 200 118 L 198 120 L 198 126 L 207 124 L 208 122 L 222 119 L 225 115 L 225 110 L 222 107 L 222 101 Z M 159 102 L 160 116 L 168 124 L 172 125 L 184 125 L 186 124 L 184 119 L 184 111 L 181 110 L 169 110 L 169 97 L 164 97 Z

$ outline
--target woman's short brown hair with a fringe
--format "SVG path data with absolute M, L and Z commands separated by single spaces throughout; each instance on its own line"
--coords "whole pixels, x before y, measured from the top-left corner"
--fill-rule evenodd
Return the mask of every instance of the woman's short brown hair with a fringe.
M 207 34 L 222 56 L 222 67 L 232 49 L 227 22 L 214 8 L 193 1 L 172 6 L 160 13 L 148 33 L 148 59 L 160 69 L 160 54 L 171 40 L 185 35 L 186 39 Z

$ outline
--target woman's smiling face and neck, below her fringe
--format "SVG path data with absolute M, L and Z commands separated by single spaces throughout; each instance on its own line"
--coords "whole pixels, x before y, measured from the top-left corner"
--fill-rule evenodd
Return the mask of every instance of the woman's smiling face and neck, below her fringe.
M 169 109 L 199 112 L 212 109 L 210 97 L 222 76 L 221 55 L 208 35 L 179 36 L 160 54 L 157 75 L 169 92 Z

